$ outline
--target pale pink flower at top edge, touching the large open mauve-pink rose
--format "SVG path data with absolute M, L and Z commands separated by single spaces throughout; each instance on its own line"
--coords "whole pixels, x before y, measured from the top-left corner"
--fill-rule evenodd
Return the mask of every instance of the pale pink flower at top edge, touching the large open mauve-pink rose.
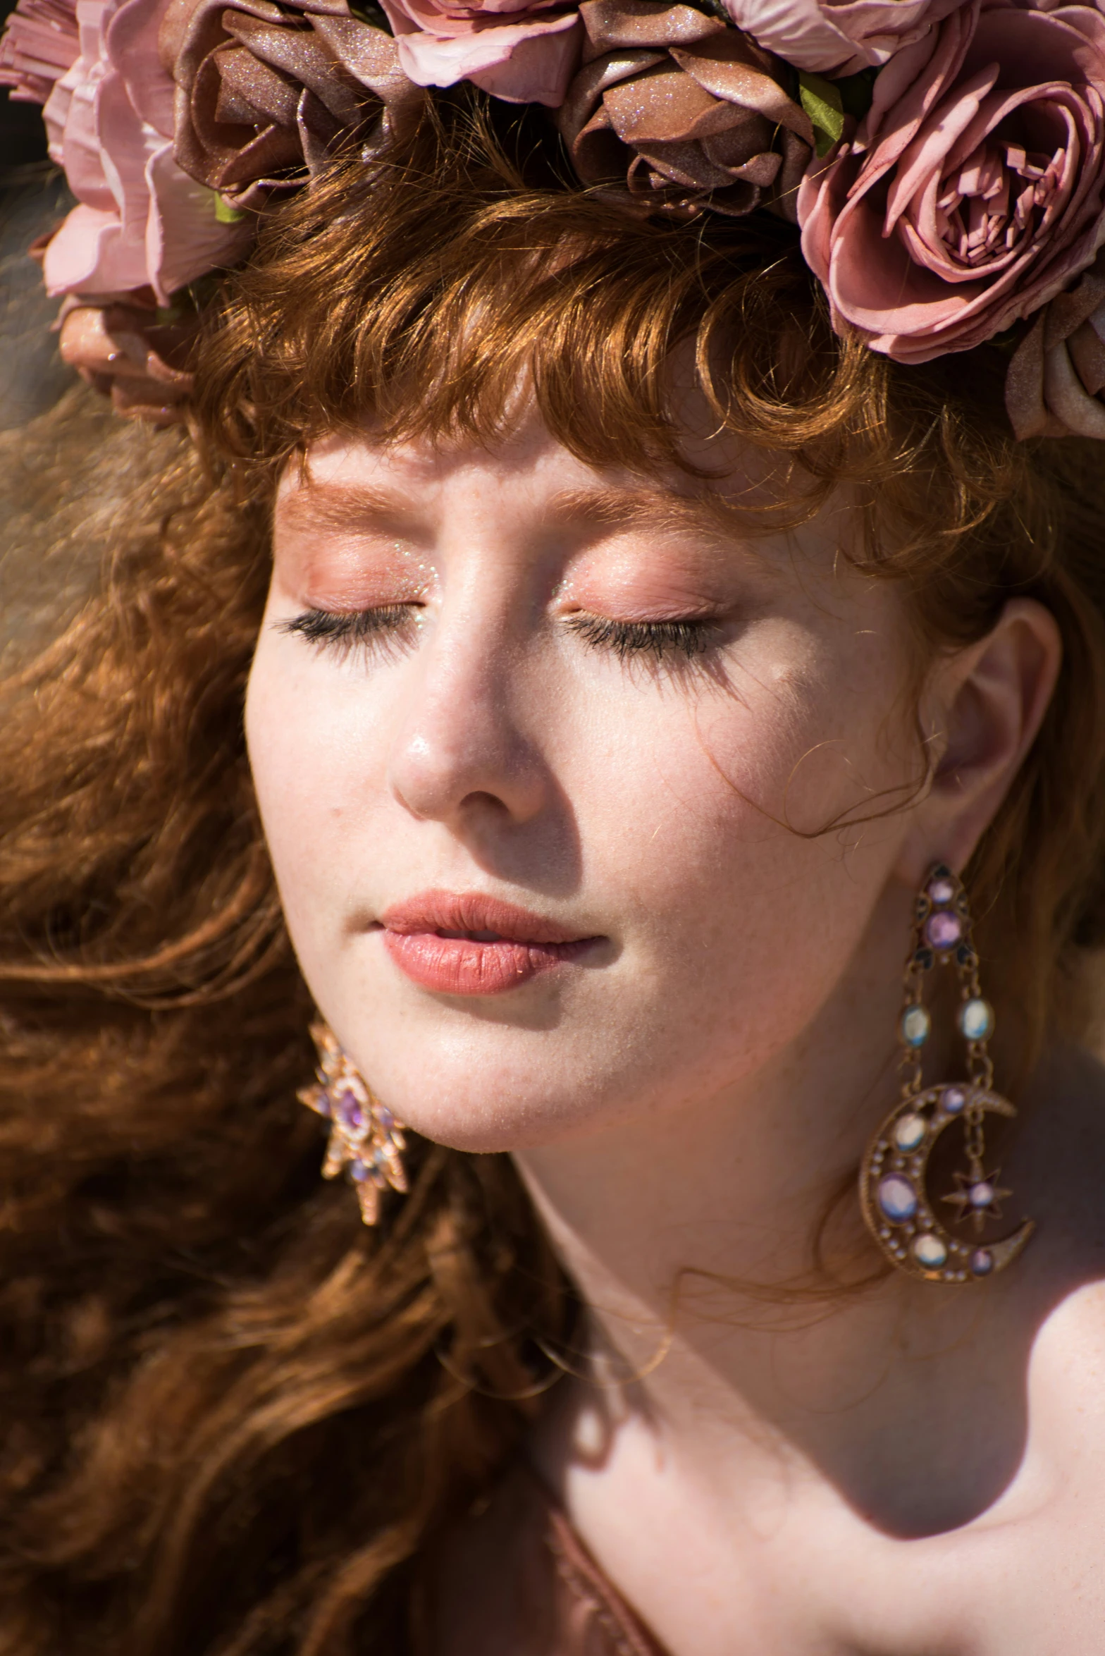
M 817 75 L 859 75 L 923 40 L 963 0 L 723 0 L 766 51 Z

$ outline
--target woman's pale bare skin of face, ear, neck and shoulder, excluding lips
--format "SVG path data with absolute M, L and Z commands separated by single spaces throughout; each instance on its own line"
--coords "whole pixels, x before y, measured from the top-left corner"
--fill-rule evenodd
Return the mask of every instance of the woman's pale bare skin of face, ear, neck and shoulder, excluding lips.
M 493 452 L 331 439 L 285 479 L 246 730 L 306 980 L 397 1116 L 514 1154 L 602 1381 L 557 1388 L 528 1452 L 672 1656 L 1090 1656 L 1097 1066 L 1050 1053 L 1019 1100 L 1016 1272 L 779 1293 L 893 1103 L 911 893 L 1001 805 L 1055 624 L 1014 599 L 933 662 L 918 788 L 906 614 L 839 556 L 847 513 L 741 540 L 672 487 L 534 419 Z M 354 611 L 361 643 L 288 631 Z M 428 992 L 379 924 L 427 889 L 602 942 L 506 994 Z M 951 1078 L 956 1048 L 930 1061 Z M 840 1214 L 830 1270 L 860 1245 Z M 443 1616 L 438 1656 L 471 1656 Z

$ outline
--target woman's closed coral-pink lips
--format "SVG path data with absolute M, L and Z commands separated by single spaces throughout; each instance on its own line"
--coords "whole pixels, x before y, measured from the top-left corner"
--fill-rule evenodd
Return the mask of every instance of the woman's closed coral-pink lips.
M 602 942 L 480 891 L 423 891 L 380 926 L 399 970 L 445 995 L 503 995 Z

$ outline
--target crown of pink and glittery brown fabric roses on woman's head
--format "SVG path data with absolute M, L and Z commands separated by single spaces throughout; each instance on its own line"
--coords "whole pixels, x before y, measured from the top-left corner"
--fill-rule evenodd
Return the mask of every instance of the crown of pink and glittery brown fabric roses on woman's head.
M 371 159 L 471 81 L 554 111 L 622 209 L 794 220 L 875 351 L 996 341 L 1017 436 L 1105 437 L 1105 0 L 380 5 L 20 0 L 0 83 L 45 104 L 78 200 L 46 288 L 164 321 L 342 137 Z

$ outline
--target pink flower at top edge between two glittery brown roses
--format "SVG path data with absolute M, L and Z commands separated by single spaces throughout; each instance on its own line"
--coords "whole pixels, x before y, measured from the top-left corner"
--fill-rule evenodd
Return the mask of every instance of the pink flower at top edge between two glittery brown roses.
M 471 81 L 508 103 L 556 109 L 579 61 L 579 13 L 557 0 L 380 0 L 419 86 Z

